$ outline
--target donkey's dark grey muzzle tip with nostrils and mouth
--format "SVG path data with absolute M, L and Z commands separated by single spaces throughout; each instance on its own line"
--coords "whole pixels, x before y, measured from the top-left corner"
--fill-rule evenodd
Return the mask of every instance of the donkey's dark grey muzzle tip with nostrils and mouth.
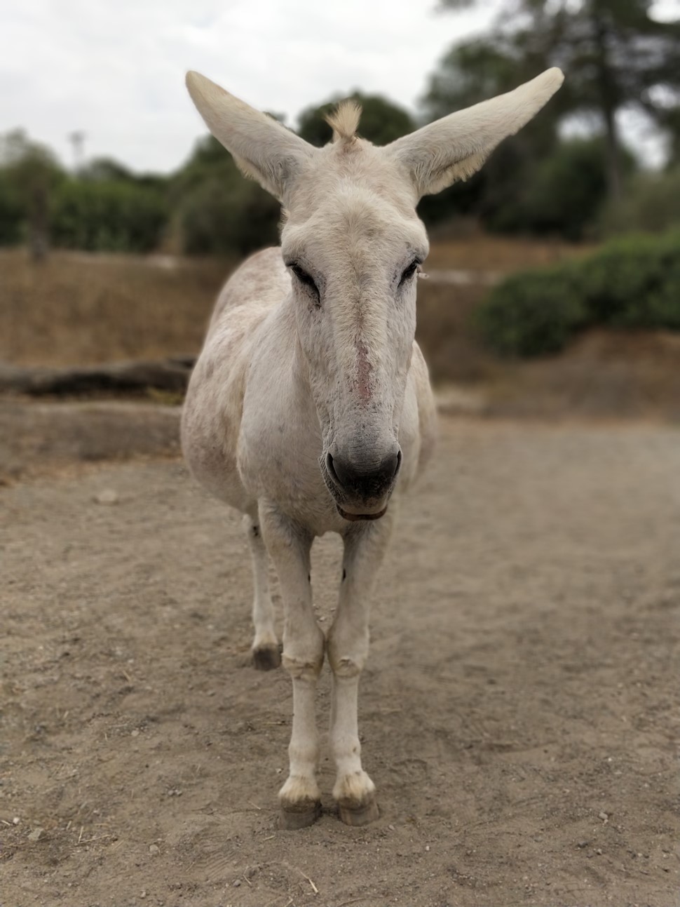
M 377 466 L 345 459 L 339 453 L 335 456 L 327 453 L 325 457 L 325 468 L 343 510 L 349 512 L 351 508 L 356 512 L 353 515 L 360 519 L 373 514 L 383 515 L 380 511 L 384 512 L 386 498 L 392 492 L 401 463 L 402 452 L 398 448 Z M 345 516 L 345 519 L 351 518 Z

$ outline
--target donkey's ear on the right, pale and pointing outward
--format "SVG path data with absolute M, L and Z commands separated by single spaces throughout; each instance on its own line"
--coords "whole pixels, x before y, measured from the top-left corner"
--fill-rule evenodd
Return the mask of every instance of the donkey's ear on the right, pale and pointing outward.
M 513 92 L 431 122 L 385 151 L 403 164 L 418 197 L 432 195 L 478 171 L 500 141 L 518 132 L 557 92 L 564 76 L 548 69 Z

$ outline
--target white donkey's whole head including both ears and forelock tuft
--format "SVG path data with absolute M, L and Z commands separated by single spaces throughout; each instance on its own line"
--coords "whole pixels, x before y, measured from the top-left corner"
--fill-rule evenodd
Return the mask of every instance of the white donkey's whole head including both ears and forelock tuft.
M 314 148 L 189 73 L 189 93 L 239 167 L 284 206 L 281 249 L 326 487 L 347 520 L 382 516 L 399 473 L 399 420 L 415 334 L 415 278 L 428 252 L 415 207 L 479 170 L 562 83 L 550 69 L 508 94 L 374 147 L 341 105 Z

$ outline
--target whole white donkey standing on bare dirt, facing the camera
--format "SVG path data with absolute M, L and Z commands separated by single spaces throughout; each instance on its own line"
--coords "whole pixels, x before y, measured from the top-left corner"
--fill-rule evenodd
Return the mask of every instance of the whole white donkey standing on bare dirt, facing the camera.
M 317 149 L 197 73 L 189 93 L 240 168 L 281 201 L 281 248 L 259 252 L 222 290 L 191 377 L 182 444 L 191 472 L 245 514 L 255 574 L 253 658 L 280 663 L 267 551 L 285 609 L 283 665 L 293 680 L 284 827 L 321 812 L 316 783 L 316 680 L 333 671 L 330 746 L 340 818 L 378 815 L 362 768 L 359 676 L 368 606 L 402 493 L 432 453 L 435 418 L 415 343 L 415 278 L 428 253 L 421 196 L 477 171 L 562 83 L 550 69 L 376 148 L 341 105 L 333 141 Z M 325 636 L 312 607 L 310 549 L 344 541 L 342 581 Z

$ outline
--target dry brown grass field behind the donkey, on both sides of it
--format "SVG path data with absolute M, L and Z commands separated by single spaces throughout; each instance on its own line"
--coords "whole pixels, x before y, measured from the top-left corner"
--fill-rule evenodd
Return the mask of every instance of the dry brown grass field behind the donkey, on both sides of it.
M 511 270 L 583 249 L 507 239 L 434 244 L 432 268 Z M 70 366 L 199 351 L 229 263 L 54 254 L 35 267 L 0 252 L 0 362 Z M 507 362 L 471 329 L 481 284 L 419 286 L 417 336 L 437 385 L 466 385 L 491 414 L 680 415 L 680 337 L 581 337 L 560 356 Z

